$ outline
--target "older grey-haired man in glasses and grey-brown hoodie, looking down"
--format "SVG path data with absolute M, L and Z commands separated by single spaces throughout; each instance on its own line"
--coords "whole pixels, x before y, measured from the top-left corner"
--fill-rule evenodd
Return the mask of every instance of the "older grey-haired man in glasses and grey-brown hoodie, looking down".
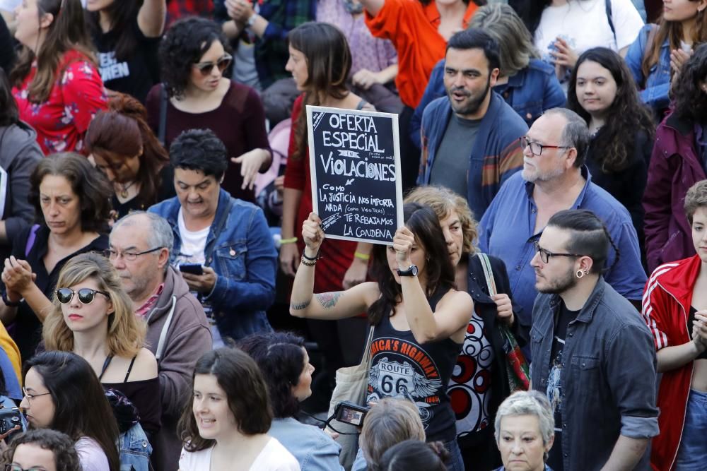
M 179 460 L 182 400 L 191 393 L 194 364 L 211 350 L 204 309 L 168 263 L 173 241 L 163 217 L 134 211 L 115 222 L 107 250 L 136 316 L 147 323 L 145 347 L 157 359 L 163 412 L 162 428 L 151 443 L 156 470 L 172 469 Z

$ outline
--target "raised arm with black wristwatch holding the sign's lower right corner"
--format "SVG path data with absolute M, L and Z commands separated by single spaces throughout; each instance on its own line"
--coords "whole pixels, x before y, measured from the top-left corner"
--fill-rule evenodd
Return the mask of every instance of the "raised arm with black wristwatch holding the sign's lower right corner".
M 412 265 L 412 251 L 420 250 L 415 246 L 415 236 L 410 229 L 397 229 L 393 246 L 388 250 L 395 250 L 398 268 L 407 270 Z M 445 294 L 433 312 L 418 276 L 401 276 L 400 285 L 407 322 L 417 342 L 435 342 L 450 337 L 455 342 L 464 339 L 464 330 L 474 311 L 474 302 L 469 294 L 462 291 Z

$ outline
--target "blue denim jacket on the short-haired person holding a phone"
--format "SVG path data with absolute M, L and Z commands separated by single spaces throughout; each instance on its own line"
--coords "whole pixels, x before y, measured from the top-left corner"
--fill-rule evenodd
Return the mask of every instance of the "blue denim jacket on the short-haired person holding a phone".
M 175 196 L 149 209 L 172 226 L 175 242 L 170 261 L 174 261 L 182 246 L 177 224 L 180 208 Z M 205 265 L 216 272 L 216 284 L 201 300 L 214 309 L 221 336 L 239 340 L 271 330 L 265 310 L 275 298 L 277 252 L 262 209 L 232 198 L 221 189 L 204 256 Z

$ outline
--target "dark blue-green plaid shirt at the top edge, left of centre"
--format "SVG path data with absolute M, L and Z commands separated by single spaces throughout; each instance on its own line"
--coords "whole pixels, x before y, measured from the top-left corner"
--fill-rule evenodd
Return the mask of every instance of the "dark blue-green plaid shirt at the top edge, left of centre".
M 224 0 L 214 0 L 216 19 L 228 21 Z M 256 0 L 255 11 L 268 21 L 263 37 L 255 40 L 255 68 L 263 89 L 274 81 L 291 77 L 285 70 L 290 30 L 315 19 L 316 0 Z M 259 10 L 258 10 L 259 8 Z

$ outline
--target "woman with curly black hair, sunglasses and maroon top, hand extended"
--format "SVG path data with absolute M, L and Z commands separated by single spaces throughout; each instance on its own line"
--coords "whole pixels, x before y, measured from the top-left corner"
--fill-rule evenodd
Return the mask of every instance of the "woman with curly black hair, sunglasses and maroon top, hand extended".
M 271 162 L 265 112 L 255 90 L 225 76 L 233 61 L 227 47 L 213 21 L 175 22 L 160 44 L 164 83 L 147 97 L 148 122 L 166 148 L 187 129 L 214 131 L 230 157 L 223 189 L 255 203 L 255 177 Z M 165 114 L 160 113 L 163 106 Z

